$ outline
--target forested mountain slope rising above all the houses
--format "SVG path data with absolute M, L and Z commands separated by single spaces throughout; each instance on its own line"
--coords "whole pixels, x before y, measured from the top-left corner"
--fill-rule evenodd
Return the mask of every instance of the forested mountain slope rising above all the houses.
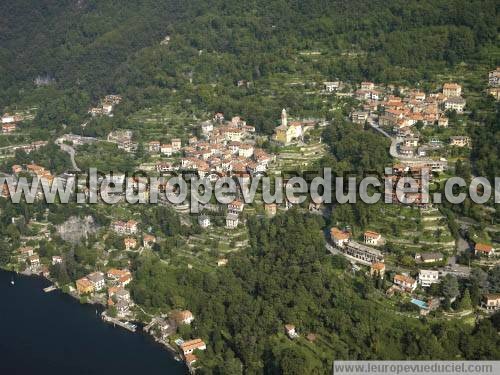
M 130 110 L 175 89 L 269 130 L 271 113 L 300 100 L 264 102 L 237 80 L 261 89 L 282 74 L 415 82 L 462 61 L 494 64 L 497 13 L 494 0 L 2 2 L 0 107 L 41 76 L 57 88 L 39 93 L 52 103 L 44 110 L 57 103 L 68 117 L 105 93 L 125 94 Z

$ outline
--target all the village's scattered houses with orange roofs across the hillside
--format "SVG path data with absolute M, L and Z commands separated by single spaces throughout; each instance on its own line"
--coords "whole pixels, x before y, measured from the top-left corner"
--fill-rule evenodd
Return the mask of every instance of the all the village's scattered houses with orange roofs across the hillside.
M 499 100 L 500 68 L 490 73 L 488 82 L 491 86 L 488 94 Z M 357 107 L 349 116 L 352 123 L 364 126 L 366 131 L 380 132 L 390 138 L 391 146 L 388 152 L 394 159 L 391 174 L 394 179 L 405 174 L 418 178 L 424 168 L 429 168 L 433 172 L 431 176 L 433 179 L 441 178 L 452 168 L 456 160 L 464 155 L 460 151 L 455 152 L 456 149 L 471 147 L 471 140 L 465 133 L 460 131 L 455 133 L 457 127 L 449 128 L 450 117 L 454 118 L 453 121 L 457 121 L 457 115 L 467 110 L 467 102 L 463 98 L 461 85 L 454 82 L 445 83 L 440 92 L 430 94 L 417 89 L 401 90 L 398 88 L 397 94 L 395 91 L 394 87 L 362 82 L 355 90 L 345 92 L 342 82 L 324 83 L 326 94 L 356 99 Z M 100 116 L 113 116 L 114 108 L 121 101 L 121 96 L 106 96 L 99 106 L 89 110 L 89 121 Z M 15 133 L 16 124 L 22 121 L 23 117 L 18 114 L 5 114 L 2 117 L 2 132 Z M 318 129 L 325 125 L 326 122 L 322 119 L 290 119 L 287 109 L 283 109 L 274 134 L 267 140 L 272 142 L 278 150 L 277 153 L 273 153 L 262 146 L 262 141 L 256 134 L 254 126 L 247 124 L 239 116 L 225 119 L 224 114 L 218 112 L 212 118 L 196 124 L 198 136 L 195 136 L 193 132 L 182 137 L 170 137 L 167 143 L 150 137 L 145 142 L 145 149 L 150 160 L 141 164 L 141 167 L 157 175 L 171 176 L 173 172 L 189 171 L 211 180 L 222 175 L 248 179 L 261 174 L 276 175 L 287 163 L 298 164 L 299 168 L 307 165 L 299 157 L 295 159 L 289 157 L 292 147 L 298 147 L 300 156 L 306 161 L 321 157 L 324 146 L 317 134 Z M 308 135 L 307 141 L 306 134 Z M 114 130 L 107 135 L 105 140 L 65 134 L 59 138 L 58 144 L 62 150 L 72 155 L 73 163 L 75 163 L 75 154 L 78 154 L 80 146 L 100 142 L 114 143 L 117 148 L 130 154 L 134 154 L 139 148 L 137 140 L 134 139 L 134 131 L 129 129 Z M 16 147 L 30 153 L 46 144 L 47 141 L 34 141 Z M 314 147 L 314 155 L 311 155 L 309 159 L 308 147 Z M 14 151 L 15 149 L 14 147 Z M 284 156 L 285 153 L 286 156 Z M 33 163 L 26 165 L 13 165 L 12 174 L 16 176 L 36 175 L 49 182 L 55 179 L 67 181 L 71 177 L 71 173 L 56 175 L 37 165 L 36 162 L 34 160 Z M 74 166 L 77 167 L 77 165 Z M 122 178 L 121 175 L 115 177 Z M 140 181 L 137 183 L 140 184 Z M 175 194 L 174 191 L 166 193 Z M 144 194 L 147 197 L 147 189 Z M 397 202 L 394 193 L 392 201 L 396 206 L 395 209 L 406 210 L 408 217 L 421 215 L 425 219 L 427 215 L 429 222 L 442 218 L 436 207 L 431 203 L 422 202 L 420 191 L 413 195 L 414 203 L 409 207 L 403 207 L 404 205 Z M 4 198 L 9 196 L 6 185 L 3 186 L 2 196 Z M 39 196 L 38 199 L 42 197 Z M 323 205 L 312 201 L 307 201 L 303 205 L 289 200 L 283 204 L 265 204 L 258 197 L 255 202 L 247 203 L 241 196 L 227 205 L 208 203 L 199 207 L 194 215 L 189 212 L 189 207 L 186 205 L 172 205 L 167 200 L 161 201 L 160 204 L 172 207 L 185 221 L 191 220 L 202 229 L 200 233 L 192 235 L 187 240 L 184 249 L 179 251 L 185 258 L 185 263 L 182 264 L 188 269 L 193 266 L 203 267 L 203 269 L 226 266 L 231 252 L 241 251 L 247 246 L 245 222 L 251 215 L 272 217 L 292 207 L 318 215 L 324 215 L 326 212 Z M 116 210 L 118 209 L 124 212 L 122 207 Z M 113 208 L 107 210 L 113 210 Z M 120 216 L 113 215 L 113 217 Z M 155 244 L 162 239 L 151 233 L 149 228 L 142 226 L 140 218 L 132 219 L 133 216 L 128 214 L 121 217 L 122 220 L 113 220 L 108 228 L 101 228 L 102 238 L 110 236 L 111 233 L 117 236 L 123 243 L 124 254 L 140 256 L 144 253 L 154 253 Z M 409 218 L 408 221 L 411 219 Z M 39 235 L 50 241 L 51 233 L 47 228 L 42 228 L 44 224 L 46 225 L 43 220 L 38 223 L 27 223 L 27 225 L 38 226 Z M 410 223 L 410 227 L 412 225 Z M 447 275 L 458 278 L 470 276 L 470 264 L 465 266 L 456 262 L 457 244 L 451 234 L 449 235 L 451 245 L 435 246 L 437 249 L 432 251 L 422 251 L 423 245 L 418 243 L 413 244 L 414 246 L 401 243 L 401 247 L 405 248 L 405 254 L 413 258 L 410 264 L 402 264 L 399 258 L 388 254 L 385 247 L 388 239 L 398 245 L 397 239 L 393 238 L 397 236 L 379 233 L 376 229 L 353 233 L 349 226 L 333 226 L 329 228 L 329 233 L 325 238 L 326 250 L 333 255 L 345 257 L 350 262 L 353 272 L 362 272 L 380 280 L 388 299 L 409 300 L 418 307 L 419 315 L 427 316 L 431 312 L 437 314 L 439 306 L 443 303 L 442 298 L 437 298 L 429 292 L 433 285 L 440 283 Z M 209 255 L 207 249 L 201 256 L 194 255 L 195 246 L 208 243 L 203 247 L 209 248 L 210 241 L 223 244 L 225 250 Z M 41 256 L 37 250 L 37 241 L 34 239 L 26 239 L 23 242 L 14 261 L 16 270 L 20 272 L 51 278 L 49 269 L 65 262 L 64 254 L 53 255 L 50 258 Z M 470 253 L 474 266 L 493 267 L 499 262 L 496 248 L 491 241 L 483 242 L 480 239 L 467 241 L 466 247 L 459 251 Z M 114 251 L 114 253 L 120 252 Z M 130 264 L 128 255 L 117 256 L 123 262 Z M 136 322 L 140 320 L 139 316 L 142 318 L 146 316 L 146 321 L 141 321 L 144 324 L 144 330 L 153 335 L 159 343 L 178 353 L 190 369 L 195 369 L 196 354 L 198 351 L 206 350 L 207 341 L 199 337 L 186 339 L 178 334 L 180 326 L 191 325 L 195 321 L 193 313 L 189 310 L 177 309 L 159 315 L 145 313 L 134 303 L 129 292 L 128 286 L 133 281 L 130 269 L 106 267 L 106 265 L 107 260 L 101 262 L 98 269 L 92 270 L 85 277 L 69 285 L 58 285 L 58 287 L 67 287 L 67 292 L 82 302 L 104 306 L 106 309 L 102 313 L 104 320 L 132 331 L 136 329 Z M 500 295 L 485 294 L 478 313 L 486 315 L 497 310 L 500 310 Z M 297 339 L 301 335 L 300 327 L 289 322 L 284 325 L 284 333 L 290 339 Z M 307 335 L 307 340 L 314 341 L 314 339 L 312 333 Z

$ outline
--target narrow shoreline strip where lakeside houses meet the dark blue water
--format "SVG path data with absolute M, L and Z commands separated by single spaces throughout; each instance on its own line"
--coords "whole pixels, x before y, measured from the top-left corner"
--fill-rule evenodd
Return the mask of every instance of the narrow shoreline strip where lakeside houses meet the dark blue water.
M 102 308 L 102 311 L 100 311 L 100 314 L 99 314 L 100 320 L 102 322 L 104 322 L 104 323 L 107 323 L 107 324 L 114 324 L 113 321 L 108 321 L 103 316 L 103 314 L 105 314 L 105 312 L 106 312 L 106 306 L 105 305 L 103 305 L 100 302 L 93 301 L 93 300 L 88 300 L 87 302 L 82 303 L 81 300 L 80 300 L 80 296 L 79 295 L 77 295 L 76 293 L 72 293 L 71 291 L 70 292 L 63 291 L 63 289 L 57 284 L 57 282 L 54 281 L 53 279 L 51 279 L 50 277 L 46 277 L 46 276 L 43 276 L 41 274 L 36 274 L 36 273 L 29 273 L 28 274 L 28 273 L 16 271 L 15 269 L 11 269 L 11 268 L 4 267 L 4 266 L 0 266 L 0 270 L 4 271 L 4 272 L 13 273 L 16 276 L 23 276 L 23 277 L 29 277 L 29 278 L 40 278 L 40 279 L 46 280 L 46 281 L 48 281 L 48 282 L 51 283 L 51 285 L 49 287 L 52 288 L 52 290 L 50 292 L 57 290 L 57 291 L 60 291 L 62 295 L 72 297 L 73 300 L 78 301 L 80 304 L 86 304 L 86 305 L 92 305 L 92 306 L 97 306 L 98 305 L 98 306 L 100 306 Z M 46 288 L 44 288 L 44 289 L 46 289 Z M 42 291 L 44 293 L 47 293 L 47 292 L 45 292 L 44 289 L 42 289 Z M 116 319 L 116 320 L 120 321 L 119 319 Z M 170 345 L 168 342 L 164 342 L 164 341 L 158 339 L 157 337 L 155 337 L 153 334 L 149 333 L 148 331 L 145 331 L 144 330 L 144 327 L 145 327 L 144 322 L 140 322 L 140 321 L 132 321 L 132 322 L 134 324 L 140 325 L 141 329 L 136 329 L 136 330 L 132 331 L 132 330 L 130 330 L 130 329 L 124 327 L 124 326 L 121 326 L 120 324 L 117 324 L 117 325 L 120 325 L 121 328 L 126 329 L 128 332 L 130 332 L 132 334 L 139 333 L 139 334 L 143 334 L 143 335 L 147 336 L 148 338 L 152 339 L 152 341 L 154 341 L 154 343 L 156 345 L 163 347 L 165 349 L 165 351 L 171 356 L 171 358 L 173 360 L 175 360 L 177 362 L 182 362 L 184 364 L 186 370 L 189 371 L 189 367 L 182 360 L 181 355 L 179 354 L 179 352 L 177 350 L 175 350 L 175 348 L 172 345 Z

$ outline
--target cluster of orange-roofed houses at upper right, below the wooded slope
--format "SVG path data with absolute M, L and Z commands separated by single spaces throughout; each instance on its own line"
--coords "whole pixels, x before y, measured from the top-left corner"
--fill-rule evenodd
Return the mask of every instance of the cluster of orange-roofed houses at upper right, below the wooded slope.
M 368 117 L 380 111 L 378 121 L 388 126 L 398 135 L 413 134 L 412 126 L 417 122 L 424 125 L 448 126 L 447 110 L 457 113 L 464 111 L 466 101 L 462 98 L 462 87 L 457 83 L 445 83 L 440 93 L 426 94 L 419 90 L 408 90 L 404 97 L 386 94 L 387 88 L 373 82 L 362 82 L 354 95 L 363 105 L 353 111 L 351 119 L 355 123 L 365 123 Z

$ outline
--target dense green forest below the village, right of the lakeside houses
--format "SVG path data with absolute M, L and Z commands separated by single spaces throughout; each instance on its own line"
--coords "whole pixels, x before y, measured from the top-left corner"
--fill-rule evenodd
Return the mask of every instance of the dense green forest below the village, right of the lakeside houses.
M 199 317 L 183 337 L 207 337 L 201 373 L 323 374 L 333 359 L 498 358 L 489 319 L 475 326 L 395 315 L 377 301 L 373 281 L 351 278 L 326 255 L 321 220 L 300 212 L 249 223 L 251 251 L 215 274 L 172 270 L 143 259 L 133 298 L 147 307 L 183 307 Z M 284 324 L 302 338 L 292 343 Z M 305 337 L 314 333 L 317 340 Z

